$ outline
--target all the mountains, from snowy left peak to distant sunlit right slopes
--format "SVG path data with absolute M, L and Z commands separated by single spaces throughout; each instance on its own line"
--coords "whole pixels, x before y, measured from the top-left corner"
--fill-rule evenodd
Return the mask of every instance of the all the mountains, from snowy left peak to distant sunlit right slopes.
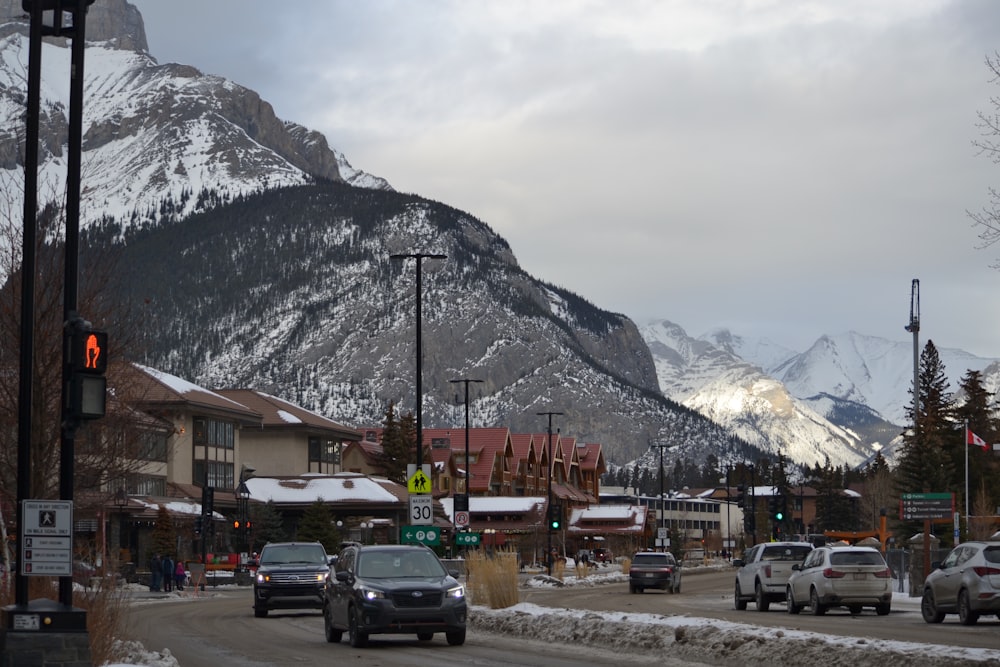
M 27 23 L 0 0 L 0 176 L 23 182 Z M 147 53 L 124 0 L 88 15 L 84 260 L 113 252 L 119 296 L 142 314 L 142 361 L 209 387 L 253 387 L 338 422 L 412 409 L 415 271 L 424 262 L 423 417 L 464 423 L 450 380 L 475 385 L 477 425 L 600 442 L 614 464 L 723 464 L 784 452 L 860 465 L 898 435 L 912 349 L 858 334 L 797 353 L 727 331 L 642 329 L 528 275 L 474 216 L 354 169 L 325 137 L 278 119 L 243 86 Z M 43 197 L 61 199 L 68 49 L 47 43 Z M 61 76 L 60 73 L 66 73 Z M 14 221 L 19 223 L 19 221 Z M 950 373 L 994 360 L 942 351 Z M 955 384 L 953 380 L 953 385 Z

